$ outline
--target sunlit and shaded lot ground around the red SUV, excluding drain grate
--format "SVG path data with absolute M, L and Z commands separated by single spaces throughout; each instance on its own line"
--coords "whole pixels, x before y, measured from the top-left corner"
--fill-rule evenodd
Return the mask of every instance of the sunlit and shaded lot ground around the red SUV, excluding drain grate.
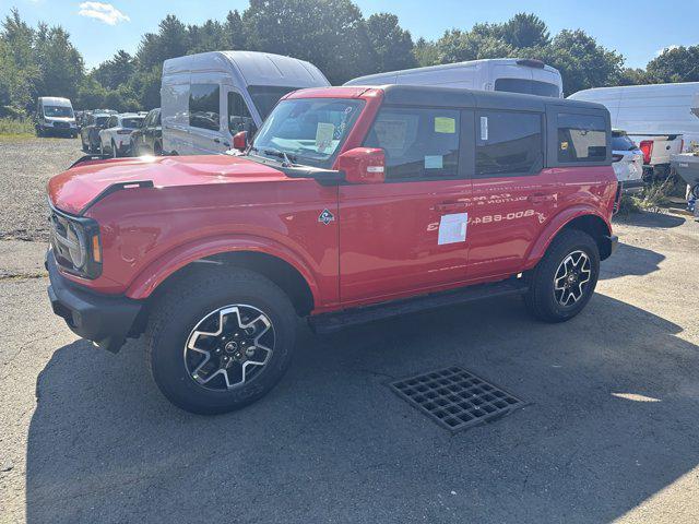
M 80 155 L 44 144 L 0 143 L 3 238 L 43 238 L 45 181 Z M 269 396 L 214 418 L 161 397 L 139 342 L 76 340 L 50 313 L 44 242 L 0 241 L 0 521 L 698 522 L 699 224 L 616 231 L 568 323 L 499 299 L 303 331 Z M 530 404 L 451 434 L 387 386 L 451 365 Z

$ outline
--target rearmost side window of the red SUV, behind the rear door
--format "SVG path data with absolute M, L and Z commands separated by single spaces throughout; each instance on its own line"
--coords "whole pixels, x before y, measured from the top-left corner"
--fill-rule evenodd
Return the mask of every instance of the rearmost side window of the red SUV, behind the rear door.
M 604 162 L 607 157 L 606 121 L 602 116 L 559 112 L 558 162 Z

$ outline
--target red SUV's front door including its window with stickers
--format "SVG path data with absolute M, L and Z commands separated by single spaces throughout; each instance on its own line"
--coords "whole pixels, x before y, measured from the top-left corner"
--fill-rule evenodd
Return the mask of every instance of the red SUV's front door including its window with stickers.
M 386 182 L 340 187 L 343 303 L 389 300 L 465 281 L 471 180 L 460 142 L 472 133 L 472 111 L 380 109 L 364 145 L 384 151 Z

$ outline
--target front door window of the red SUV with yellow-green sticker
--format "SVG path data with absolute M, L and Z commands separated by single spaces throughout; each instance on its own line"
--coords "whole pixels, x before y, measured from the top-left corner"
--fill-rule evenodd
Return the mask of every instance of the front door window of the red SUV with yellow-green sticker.
M 383 107 L 364 145 L 386 152 L 386 178 L 410 180 L 459 175 L 459 111 Z

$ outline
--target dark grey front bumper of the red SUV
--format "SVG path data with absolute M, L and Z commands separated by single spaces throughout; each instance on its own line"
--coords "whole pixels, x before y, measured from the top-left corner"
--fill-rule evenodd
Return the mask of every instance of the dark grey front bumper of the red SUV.
M 48 298 L 54 312 L 66 320 L 73 333 L 117 353 L 143 310 L 143 302 L 127 297 L 97 295 L 81 288 L 58 271 L 54 252 L 46 254 L 50 285 Z

